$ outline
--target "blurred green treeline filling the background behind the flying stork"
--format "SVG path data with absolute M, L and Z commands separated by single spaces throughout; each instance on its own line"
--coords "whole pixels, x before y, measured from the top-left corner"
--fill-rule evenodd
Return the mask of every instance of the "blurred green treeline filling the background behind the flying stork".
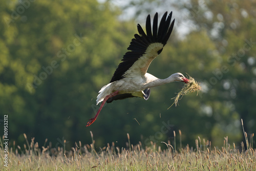
M 178 136 L 181 130 L 183 145 L 200 136 L 218 146 L 228 136 L 240 146 L 241 118 L 248 136 L 255 133 L 254 1 L 0 2 L 0 119 L 9 117 L 10 142 L 23 143 L 26 133 L 39 146 L 48 138 L 52 146 L 65 139 L 70 147 L 91 143 L 92 131 L 97 147 L 125 146 L 126 133 L 131 143 L 145 146 L 173 142 L 174 131 Z M 166 10 L 174 11 L 175 28 L 148 72 L 159 78 L 187 73 L 203 91 L 167 110 L 183 83 L 156 87 L 147 101 L 107 104 L 85 127 L 98 109 L 97 92 L 137 33 L 135 18 L 143 18 L 144 26 L 148 13 Z

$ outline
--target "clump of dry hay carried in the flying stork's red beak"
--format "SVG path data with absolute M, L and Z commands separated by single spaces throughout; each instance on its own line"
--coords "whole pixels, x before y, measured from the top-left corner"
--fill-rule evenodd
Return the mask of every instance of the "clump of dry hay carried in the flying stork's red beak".
M 200 82 L 197 82 L 194 78 L 190 77 L 189 75 L 189 82 L 184 84 L 184 87 L 181 89 L 181 91 L 177 94 L 176 97 L 172 98 L 172 99 L 175 99 L 173 104 L 177 106 L 178 100 L 180 100 L 182 96 L 195 91 L 197 91 L 197 95 L 198 95 L 198 91 L 200 90 L 201 90 Z M 172 105 L 169 106 L 169 108 L 172 107 Z

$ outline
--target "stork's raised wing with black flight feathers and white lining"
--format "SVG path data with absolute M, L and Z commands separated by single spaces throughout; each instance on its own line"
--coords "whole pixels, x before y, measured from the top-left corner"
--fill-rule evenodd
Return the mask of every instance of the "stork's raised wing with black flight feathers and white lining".
M 135 34 L 131 41 L 130 46 L 123 56 L 122 62 L 116 69 L 110 82 L 120 80 L 124 77 L 133 75 L 145 75 L 151 61 L 162 52 L 170 33 L 173 31 L 174 21 L 170 24 L 172 19 L 172 12 L 167 16 L 164 13 L 158 28 L 158 13 L 155 14 L 153 20 L 153 28 L 151 29 L 150 15 L 146 18 L 146 34 L 138 24 L 138 32 L 140 35 Z

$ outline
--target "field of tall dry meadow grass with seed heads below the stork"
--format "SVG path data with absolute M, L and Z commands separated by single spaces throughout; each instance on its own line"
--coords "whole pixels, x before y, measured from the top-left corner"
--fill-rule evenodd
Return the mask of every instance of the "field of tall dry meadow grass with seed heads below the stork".
M 246 134 L 246 133 L 245 133 Z M 141 142 L 130 144 L 127 147 L 111 145 L 95 151 L 92 135 L 92 144 L 75 144 L 71 151 L 65 147 L 53 148 L 39 147 L 34 139 L 25 136 L 26 143 L 22 150 L 20 146 L 9 149 L 8 167 L 0 166 L 1 170 L 256 170 L 256 150 L 249 144 L 247 135 L 246 143 L 242 149 L 237 149 L 234 144 L 227 143 L 227 137 L 220 149 L 211 147 L 210 141 L 200 137 L 195 141 L 195 147 L 186 145 L 178 148 L 170 142 L 162 142 L 166 148 L 151 142 L 150 146 L 142 148 Z M 181 132 L 180 132 L 181 135 Z M 47 142 L 47 140 L 46 140 Z M 3 143 L 0 148 L 0 161 L 3 163 Z M 181 145 L 180 145 L 181 146 Z M 247 150 L 246 147 L 248 147 Z

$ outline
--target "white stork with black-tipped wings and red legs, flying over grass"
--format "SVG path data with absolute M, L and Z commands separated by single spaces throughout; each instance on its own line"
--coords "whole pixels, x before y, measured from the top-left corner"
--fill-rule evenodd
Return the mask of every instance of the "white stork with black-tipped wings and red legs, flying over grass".
M 135 34 L 130 46 L 123 56 L 122 62 L 116 69 L 111 81 L 102 87 L 97 96 L 97 104 L 103 101 L 94 118 L 90 119 L 86 126 L 90 126 L 98 117 L 105 102 L 125 99 L 129 97 L 142 97 L 145 100 L 150 97 L 150 88 L 161 86 L 174 81 L 187 83 L 189 80 L 181 73 L 170 75 L 166 79 L 159 79 L 149 73 L 147 68 L 156 56 L 158 56 L 166 44 L 174 27 L 174 21 L 170 23 L 172 12 L 167 16 L 164 13 L 158 27 L 158 13 L 153 20 L 151 29 L 150 15 L 146 18 L 146 34 L 138 24 L 138 34 Z

